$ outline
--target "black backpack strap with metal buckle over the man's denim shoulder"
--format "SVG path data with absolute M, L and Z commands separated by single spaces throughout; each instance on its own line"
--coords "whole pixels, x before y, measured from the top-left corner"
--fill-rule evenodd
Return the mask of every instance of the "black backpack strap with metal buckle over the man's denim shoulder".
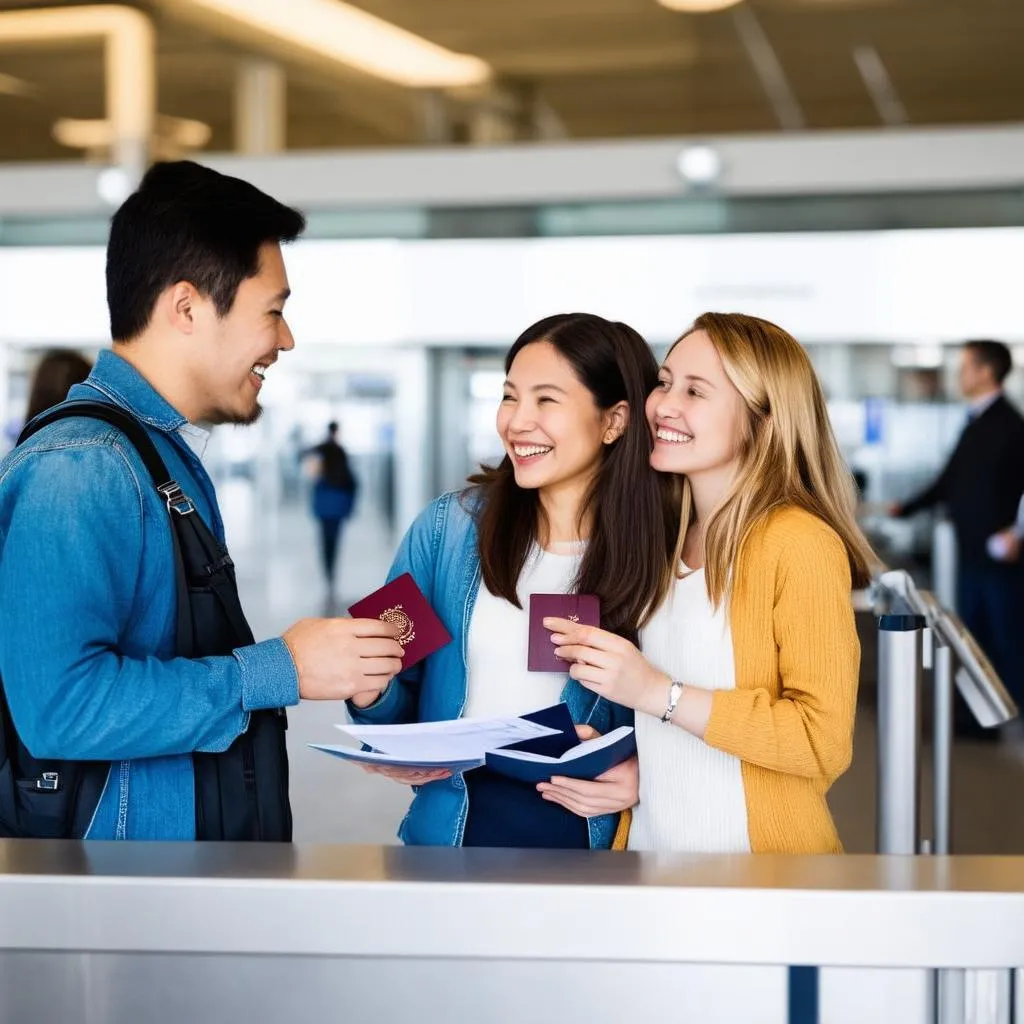
M 167 511 L 175 519 L 193 515 L 196 506 L 191 499 L 185 495 L 177 482 L 171 477 L 167 465 L 157 451 L 157 445 L 145 432 L 145 428 L 131 413 L 125 412 L 120 406 L 113 406 L 105 401 L 65 401 L 59 406 L 54 406 L 35 417 L 31 423 L 26 424 L 17 443 L 27 441 L 33 434 L 38 433 L 43 427 L 48 427 L 58 420 L 68 420 L 72 417 L 84 416 L 91 420 L 103 420 L 117 427 L 138 452 L 153 482 L 167 504 Z M 172 526 L 176 526 L 172 522 Z M 191 647 L 193 637 L 193 616 L 191 605 L 188 603 L 188 582 L 185 575 L 184 563 L 181 558 L 181 548 L 178 543 L 177 528 L 171 529 L 171 538 L 174 544 L 174 570 L 177 594 L 177 650 L 179 653 L 187 652 Z

